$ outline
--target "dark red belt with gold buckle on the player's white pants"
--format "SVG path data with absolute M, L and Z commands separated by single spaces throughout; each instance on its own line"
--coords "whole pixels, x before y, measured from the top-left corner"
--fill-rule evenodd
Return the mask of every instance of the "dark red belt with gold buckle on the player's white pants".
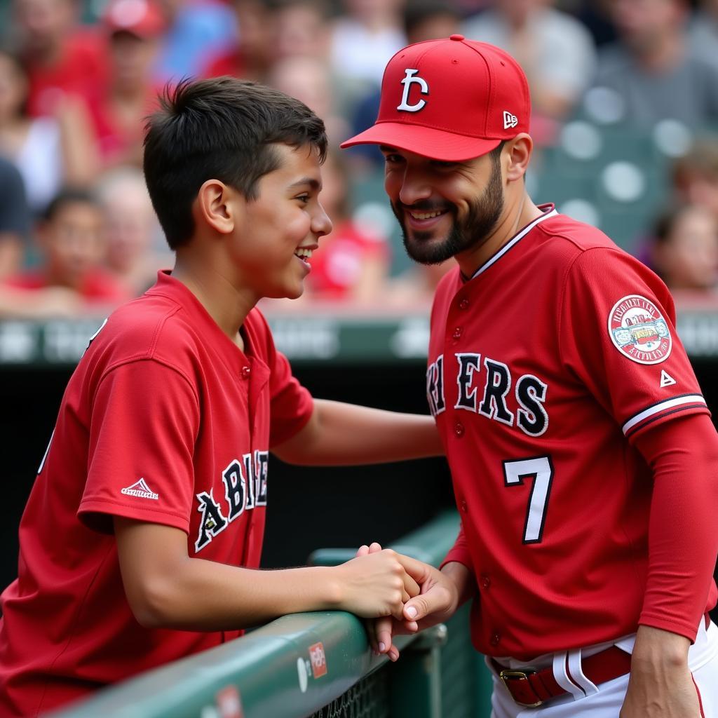
M 592 684 L 598 685 L 612 681 L 618 676 L 625 676 L 630 671 L 630 658 L 630 653 L 621 651 L 620 648 L 612 645 L 605 651 L 583 658 L 581 666 L 584 676 Z M 542 671 L 535 671 L 533 668 L 513 671 L 504 668 L 493 658 L 491 664 L 508 692 L 521 706 L 537 708 L 552 698 L 558 698 L 568 693 L 556 683 L 553 666 L 544 668 Z

